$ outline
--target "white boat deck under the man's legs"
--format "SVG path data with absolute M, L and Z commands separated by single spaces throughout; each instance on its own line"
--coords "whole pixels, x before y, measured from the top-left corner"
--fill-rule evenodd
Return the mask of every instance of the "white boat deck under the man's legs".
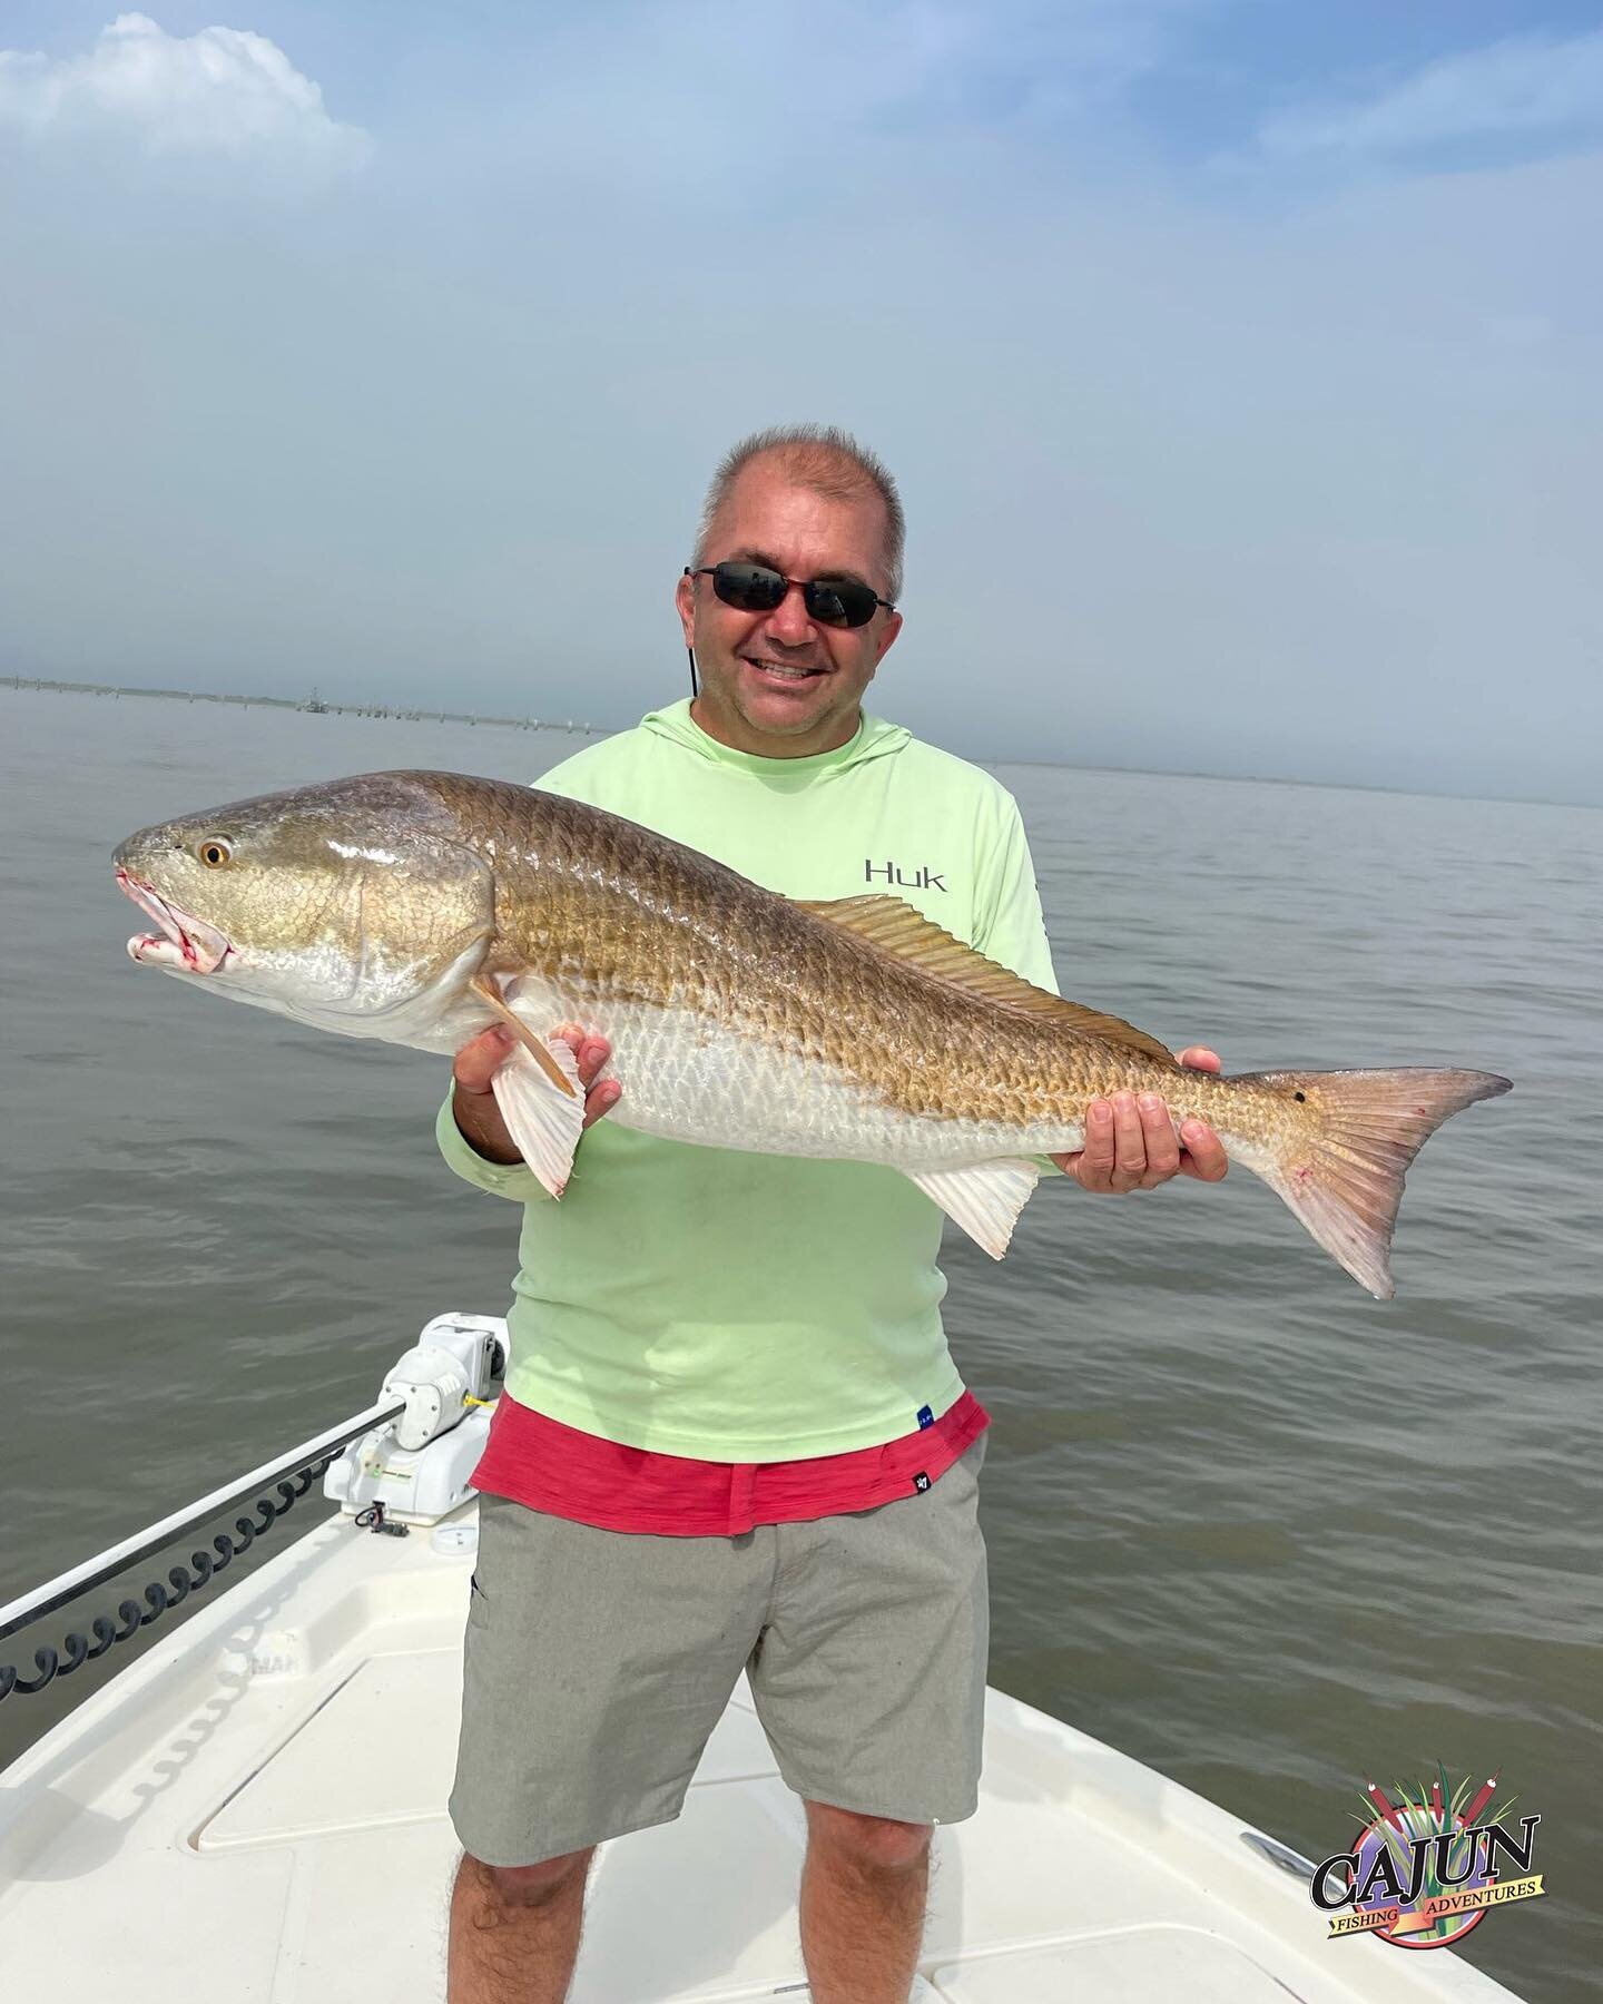
M 469 1569 L 427 1529 L 331 1519 L 0 1776 L 6 1994 L 437 2004 Z M 936 1838 L 916 1996 L 1511 1996 L 1447 1950 L 1326 1940 L 1306 1880 L 1244 1828 L 992 1691 L 980 1814 Z M 681 1820 L 603 1850 L 573 2004 L 806 1998 L 799 1862 L 741 1685 Z

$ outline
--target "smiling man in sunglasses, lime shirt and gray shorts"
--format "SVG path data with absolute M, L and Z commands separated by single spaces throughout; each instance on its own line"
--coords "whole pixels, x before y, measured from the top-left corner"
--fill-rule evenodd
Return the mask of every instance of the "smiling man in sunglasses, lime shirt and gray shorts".
M 862 711 L 900 573 L 872 455 L 818 427 L 747 439 L 677 587 L 699 693 L 541 786 L 785 896 L 906 898 L 1054 986 L 1012 798 Z M 561 1034 L 587 1088 L 561 1204 L 495 1106 L 501 1030 L 459 1052 L 439 1126 L 459 1174 L 525 1202 L 477 1473 L 451 2004 L 567 1994 L 595 1844 L 677 1816 L 741 1669 L 806 1800 L 812 1996 L 900 2004 L 930 1830 L 974 1810 L 986 1681 L 986 1415 L 940 1329 L 942 1216 L 888 1168 L 597 1126 L 629 1080 L 601 1036 Z M 1124 1094 L 1056 1160 L 1086 1190 L 1224 1174 L 1206 1126 L 1182 1138 Z

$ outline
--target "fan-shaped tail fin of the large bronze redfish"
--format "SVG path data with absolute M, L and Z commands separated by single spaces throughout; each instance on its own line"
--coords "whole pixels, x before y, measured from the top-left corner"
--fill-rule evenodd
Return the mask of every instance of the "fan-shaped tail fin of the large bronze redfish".
M 1256 1084 L 1306 1102 L 1314 1120 L 1286 1138 L 1266 1166 L 1278 1190 L 1330 1259 L 1391 1301 L 1391 1232 L 1409 1164 L 1443 1120 L 1507 1092 L 1497 1072 L 1252 1072 Z M 1234 1084 L 1236 1080 L 1232 1080 Z

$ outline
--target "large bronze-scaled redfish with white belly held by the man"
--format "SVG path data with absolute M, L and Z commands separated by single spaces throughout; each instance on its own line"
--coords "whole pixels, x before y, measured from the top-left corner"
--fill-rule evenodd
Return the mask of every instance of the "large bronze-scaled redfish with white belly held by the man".
M 996 1259 L 1030 1156 L 1084 1110 L 1160 1092 L 1278 1190 L 1373 1295 L 1403 1174 L 1493 1072 L 1180 1066 L 1156 1038 L 984 960 L 896 898 L 795 904 L 553 794 L 383 772 L 130 836 L 116 878 L 160 926 L 134 960 L 321 1030 L 457 1050 L 507 1022 L 495 1094 L 561 1194 L 583 1096 L 553 1038 L 611 1040 L 611 1118 L 719 1148 L 900 1168 Z

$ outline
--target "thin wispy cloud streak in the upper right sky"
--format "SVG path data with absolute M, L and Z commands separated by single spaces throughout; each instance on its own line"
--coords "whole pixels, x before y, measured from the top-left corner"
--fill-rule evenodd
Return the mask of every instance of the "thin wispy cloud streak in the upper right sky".
M 1403 154 L 1463 140 L 1603 132 L 1603 32 L 1519 34 L 1445 56 L 1359 104 L 1304 104 L 1258 132 L 1272 154 Z

